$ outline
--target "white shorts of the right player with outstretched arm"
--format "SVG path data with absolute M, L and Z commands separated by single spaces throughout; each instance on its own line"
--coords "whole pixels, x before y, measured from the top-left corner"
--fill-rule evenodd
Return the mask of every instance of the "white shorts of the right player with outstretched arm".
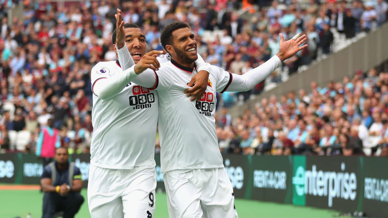
M 234 218 L 233 188 L 224 168 L 163 174 L 170 218 Z

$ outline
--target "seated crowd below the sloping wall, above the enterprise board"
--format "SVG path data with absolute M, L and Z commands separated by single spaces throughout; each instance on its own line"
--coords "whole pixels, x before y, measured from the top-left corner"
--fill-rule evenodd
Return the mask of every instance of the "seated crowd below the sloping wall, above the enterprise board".
M 343 81 L 262 98 L 232 121 L 216 117 L 223 153 L 388 156 L 388 63 Z

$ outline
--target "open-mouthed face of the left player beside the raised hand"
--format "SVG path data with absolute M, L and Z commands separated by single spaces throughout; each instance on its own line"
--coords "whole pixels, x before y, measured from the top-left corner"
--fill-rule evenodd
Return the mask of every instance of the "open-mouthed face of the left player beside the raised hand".
M 147 50 L 146 36 L 139 28 L 125 28 L 125 44 L 137 64 Z

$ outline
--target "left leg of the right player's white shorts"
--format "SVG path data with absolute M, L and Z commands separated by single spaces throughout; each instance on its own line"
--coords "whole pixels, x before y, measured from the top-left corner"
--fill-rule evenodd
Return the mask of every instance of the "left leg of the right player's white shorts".
M 202 217 L 201 187 L 193 171 L 170 171 L 163 175 L 170 218 Z

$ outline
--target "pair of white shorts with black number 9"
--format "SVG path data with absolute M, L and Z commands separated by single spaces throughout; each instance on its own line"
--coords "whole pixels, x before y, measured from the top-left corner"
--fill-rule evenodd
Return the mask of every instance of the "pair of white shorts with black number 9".
M 132 170 L 90 165 L 87 201 L 92 218 L 154 217 L 155 167 Z

